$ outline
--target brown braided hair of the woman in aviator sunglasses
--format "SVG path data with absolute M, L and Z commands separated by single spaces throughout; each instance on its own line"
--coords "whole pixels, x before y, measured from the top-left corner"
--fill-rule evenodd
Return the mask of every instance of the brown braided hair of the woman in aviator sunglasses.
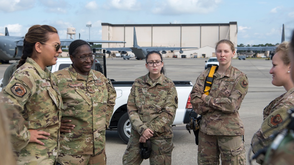
M 26 36 L 24 37 L 22 56 L 19 60 L 17 68 L 21 67 L 21 65 L 24 65 L 28 57 L 31 58 L 33 56 L 35 44 L 37 42 L 46 43 L 46 41 L 49 40 L 49 33 L 57 33 L 56 28 L 49 25 L 34 25 L 29 28 L 28 33 L 26 33 Z

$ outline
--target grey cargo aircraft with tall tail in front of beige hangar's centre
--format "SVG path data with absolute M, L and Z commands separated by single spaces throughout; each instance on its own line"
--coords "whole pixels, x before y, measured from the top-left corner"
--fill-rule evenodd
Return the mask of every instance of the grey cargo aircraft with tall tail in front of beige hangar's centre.
M 138 46 L 137 43 L 137 36 L 136 36 L 136 30 L 134 27 L 134 45 L 132 48 L 97 48 L 97 49 L 106 49 L 106 53 L 111 53 L 111 51 L 115 50 L 115 51 L 119 51 L 122 54 L 126 54 L 127 51 L 132 51 L 137 60 L 142 60 L 146 58 L 146 55 L 148 52 L 152 51 L 152 50 L 156 50 L 156 51 L 162 51 L 161 53 L 165 54 L 166 51 L 168 50 L 180 50 L 180 53 L 183 53 L 182 49 L 196 49 L 195 47 L 140 47 Z

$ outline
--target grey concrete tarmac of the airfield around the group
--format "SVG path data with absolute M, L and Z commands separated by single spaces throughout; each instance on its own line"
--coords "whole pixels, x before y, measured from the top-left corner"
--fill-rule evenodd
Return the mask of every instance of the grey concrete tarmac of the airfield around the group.
M 199 74 L 204 70 L 205 60 L 196 58 L 163 58 L 166 76 L 171 80 L 189 80 L 194 84 Z M 14 61 L 11 61 L 13 63 Z M 148 73 L 145 60 L 123 60 L 122 58 L 106 58 L 107 77 L 116 81 L 133 81 Z M 0 65 L 0 78 L 9 64 Z M 259 129 L 263 121 L 263 109 L 273 99 L 283 94 L 283 87 L 272 85 L 271 60 L 250 59 L 232 60 L 232 66 L 243 71 L 248 77 L 248 93 L 239 109 L 239 114 L 245 125 L 246 159 L 249 163 L 248 153 L 251 153 L 251 138 Z M 197 164 L 197 145 L 195 136 L 189 134 L 186 124 L 173 127 L 175 148 L 172 152 L 172 164 Z M 121 141 L 116 131 L 106 131 L 106 156 L 108 165 L 121 165 L 122 156 L 127 145 Z M 252 156 L 252 154 L 251 154 Z M 143 165 L 149 164 L 144 160 Z M 256 164 L 253 161 L 252 164 Z

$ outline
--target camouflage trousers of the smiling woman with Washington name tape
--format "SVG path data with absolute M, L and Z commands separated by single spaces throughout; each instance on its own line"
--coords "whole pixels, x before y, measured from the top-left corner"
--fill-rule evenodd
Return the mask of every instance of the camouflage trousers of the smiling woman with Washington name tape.
M 105 148 L 95 155 L 69 155 L 59 153 L 56 161 L 61 165 L 106 165 Z

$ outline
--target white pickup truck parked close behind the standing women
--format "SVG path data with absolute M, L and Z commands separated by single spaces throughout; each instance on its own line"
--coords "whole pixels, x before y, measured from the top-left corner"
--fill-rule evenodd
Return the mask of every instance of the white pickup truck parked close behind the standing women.
M 72 62 L 70 58 L 58 58 L 55 65 L 47 68 L 49 68 L 51 72 L 55 72 L 57 70 L 69 67 L 71 63 Z M 101 66 L 99 60 L 96 60 L 95 67 L 93 66 L 93 69 L 103 73 L 103 67 Z M 131 123 L 127 113 L 127 102 L 133 81 L 111 80 L 111 82 L 116 90 L 117 96 L 108 130 L 117 130 L 121 140 L 125 143 L 128 143 L 131 132 Z M 0 80 L 0 84 L 1 83 L 2 79 Z M 190 122 L 188 115 L 192 109 L 192 106 L 190 104 L 189 95 L 193 87 L 191 81 L 174 81 L 174 83 L 178 92 L 178 109 L 176 110 L 176 117 L 173 122 L 173 126 Z M 2 88 L 0 90 L 2 90 Z

